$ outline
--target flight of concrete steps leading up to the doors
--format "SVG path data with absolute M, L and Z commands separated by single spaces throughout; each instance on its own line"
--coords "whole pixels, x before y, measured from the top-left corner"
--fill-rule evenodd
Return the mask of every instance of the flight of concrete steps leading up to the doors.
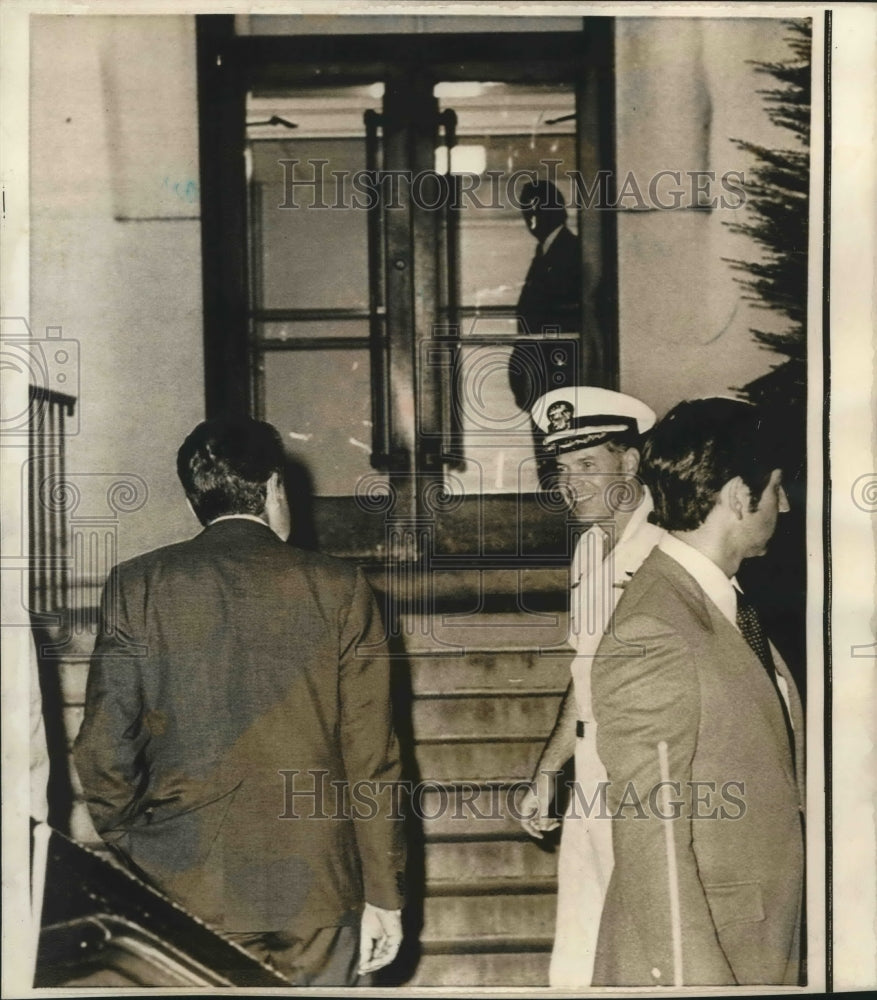
M 482 574 L 398 617 L 408 655 L 424 844 L 420 956 L 403 986 L 547 987 L 557 854 L 518 803 L 569 683 L 566 575 Z M 469 582 L 469 596 L 475 586 Z

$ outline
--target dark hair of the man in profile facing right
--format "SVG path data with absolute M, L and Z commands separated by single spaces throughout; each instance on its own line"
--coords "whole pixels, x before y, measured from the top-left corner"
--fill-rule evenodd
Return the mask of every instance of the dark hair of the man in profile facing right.
M 739 476 L 755 510 L 782 465 L 758 407 L 736 399 L 679 403 L 646 436 L 640 475 L 652 493 L 652 520 L 692 531 L 706 520 L 725 483 Z

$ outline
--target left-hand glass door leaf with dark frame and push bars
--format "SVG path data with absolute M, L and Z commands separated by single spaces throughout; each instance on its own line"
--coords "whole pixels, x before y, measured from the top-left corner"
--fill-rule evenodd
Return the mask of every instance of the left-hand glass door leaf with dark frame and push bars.
M 416 517 L 441 476 L 449 390 L 419 345 L 443 216 L 418 198 L 434 199 L 445 121 L 411 73 L 247 98 L 252 408 L 283 434 L 321 547 L 342 554 L 387 554 L 390 521 Z

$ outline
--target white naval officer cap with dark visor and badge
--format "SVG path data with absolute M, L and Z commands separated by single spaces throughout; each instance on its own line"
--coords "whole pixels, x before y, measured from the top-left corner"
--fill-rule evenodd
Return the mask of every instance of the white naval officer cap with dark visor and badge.
M 531 412 L 545 434 L 543 443 L 553 444 L 558 453 L 592 448 L 616 434 L 645 434 L 657 419 L 641 400 L 591 385 L 552 389 Z

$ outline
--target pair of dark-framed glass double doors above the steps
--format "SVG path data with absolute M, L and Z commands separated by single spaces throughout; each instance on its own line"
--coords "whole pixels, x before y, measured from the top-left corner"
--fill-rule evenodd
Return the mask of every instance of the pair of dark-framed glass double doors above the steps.
M 529 411 L 604 378 L 589 123 L 581 85 L 504 72 L 385 65 L 246 95 L 249 395 L 283 435 L 294 498 L 313 498 L 293 511 L 300 543 L 382 558 L 404 522 L 410 558 L 565 550 Z M 555 226 L 533 227 L 533 185 Z M 545 262 L 562 296 L 536 287 Z

